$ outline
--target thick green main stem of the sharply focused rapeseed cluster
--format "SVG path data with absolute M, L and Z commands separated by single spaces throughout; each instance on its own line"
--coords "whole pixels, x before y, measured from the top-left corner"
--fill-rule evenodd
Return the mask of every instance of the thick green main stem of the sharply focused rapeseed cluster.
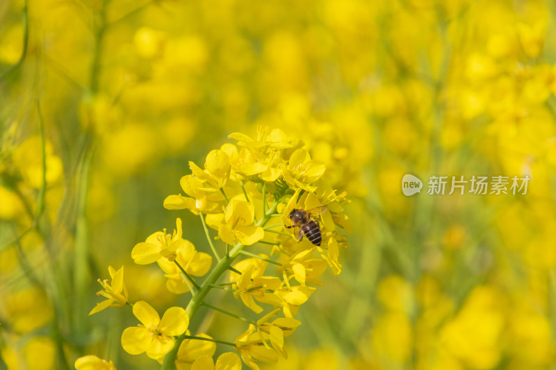
M 270 208 L 269 212 L 266 212 L 264 214 L 264 217 L 260 219 L 259 222 L 256 223 L 256 226 L 265 226 L 265 224 L 270 219 L 270 215 L 276 212 L 277 206 L 278 206 L 278 202 L 276 201 L 274 204 L 272 204 L 272 207 Z M 189 301 L 186 307 L 186 312 L 189 316 L 190 321 L 193 320 L 193 317 L 195 317 L 195 314 L 197 314 L 197 310 L 199 310 L 199 307 L 201 307 L 202 303 L 204 302 L 204 298 L 206 298 L 206 294 L 208 294 L 208 292 L 211 291 L 212 289 L 211 284 L 215 284 L 216 281 L 220 278 L 220 276 L 222 276 L 222 274 L 224 274 L 224 272 L 227 271 L 228 267 L 230 267 L 231 263 L 234 262 L 234 260 L 238 257 L 240 251 L 242 251 L 244 247 L 245 246 L 243 244 L 234 245 L 234 248 L 231 249 L 230 253 L 225 255 L 224 258 L 222 258 L 222 260 L 219 260 L 216 266 L 214 267 L 214 269 L 210 272 L 210 274 L 208 274 L 206 280 L 204 280 L 200 289 L 197 291 L 197 294 L 195 294 L 195 296 L 191 298 L 191 300 Z M 176 337 L 176 343 L 174 344 L 174 348 L 172 348 L 172 350 L 166 354 L 164 358 L 164 362 L 162 363 L 161 370 L 174 369 L 175 367 L 174 362 L 176 361 L 178 349 L 179 346 L 181 345 L 181 342 L 183 342 L 183 339 L 208 340 L 208 342 L 228 344 L 230 346 L 236 345 L 233 343 L 223 342 L 223 341 L 216 342 L 215 339 L 209 340 L 202 337 L 191 337 L 190 335 L 186 335 L 186 333 L 183 333 L 181 335 L 178 335 L 178 337 Z

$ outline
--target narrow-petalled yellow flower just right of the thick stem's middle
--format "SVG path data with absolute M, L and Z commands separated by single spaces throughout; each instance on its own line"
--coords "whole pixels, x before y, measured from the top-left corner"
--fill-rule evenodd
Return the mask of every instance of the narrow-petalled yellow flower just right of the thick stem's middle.
M 254 266 L 250 264 L 247 266 L 243 274 L 236 282 L 236 291 L 234 296 L 241 298 L 243 303 L 256 313 L 261 313 L 263 308 L 257 305 L 253 298 L 263 303 L 279 304 L 280 299 L 273 293 L 266 292 L 267 289 L 275 290 L 281 285 L 279 278 L 272 278 L 268 276 L 253 277 Z

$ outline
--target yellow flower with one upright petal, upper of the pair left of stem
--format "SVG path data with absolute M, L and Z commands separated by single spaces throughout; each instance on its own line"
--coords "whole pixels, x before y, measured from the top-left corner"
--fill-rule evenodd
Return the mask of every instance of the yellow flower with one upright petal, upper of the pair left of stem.
M 131 258 L 136 264 L 149 264 L 165 258 L 174 261 L 177 250 L 185 248 L 187 243 L 181 238 L 181 219 L 176 219 L 176 230 L 173 235 L 166 234 L 166 229 L 157 231 L 147 237 L 145 242 L 136 244 L 131 251 Z

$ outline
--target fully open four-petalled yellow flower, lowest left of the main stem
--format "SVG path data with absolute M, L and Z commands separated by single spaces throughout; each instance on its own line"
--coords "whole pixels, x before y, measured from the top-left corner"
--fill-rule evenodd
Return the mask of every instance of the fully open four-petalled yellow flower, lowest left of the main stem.
M 146 352 L 149 358 L 163 358 L 174 347 L 174 335 L 189 326 L 188 314 L 181 307 L 168 308 L 161 319 L 149 303 L 139 301 L 133 305 L 133 314 L 141 324 L 122 333 L 122 347 L 131 355 Z

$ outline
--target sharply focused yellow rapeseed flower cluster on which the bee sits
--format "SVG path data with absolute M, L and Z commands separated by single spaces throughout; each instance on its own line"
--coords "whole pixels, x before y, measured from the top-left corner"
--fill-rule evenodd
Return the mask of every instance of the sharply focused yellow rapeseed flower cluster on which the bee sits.
M 158 262 L 170 292 L 191 295 L 185 309 L 169 308 L 162 319 L 149 303 L 133 303 L 133 314 L 141 324 L 124 330 L 122 346 L 132 355 L 146 352 L 161 362 L 163 369 L 170 369 L 174 362 L 178 367 L 188 363 L 192 369 L 240 367 L 233 353 L 220 356 L 214 364 L 213 353 L 199 351 L 193 358 L 181 350 L 190 340 L 219 342 L 187 331 L 201 305 L 249 323 L 235 342 L 220 342 L 231 345 L 250 368 L 259 369 L 258 362 L 287 358 L 284 338 L 301 325 L 294 317 L 316 286 L 322 285 L 318 276 L 327 265 L 335 275 L 341 272 L 340 248 L 347 246 L 345 229 L 351 228 L 350 219 L 343 212 L 346 194 L 336 194 L 327 185 L 325 165 L 311 160 L 301 140 L 291 139 L 279 129 L 259 127 L 256 138 L 240 133 L 230 137 L 236 142 L 208 153 L 204 168 L 189 162 L 192 174 L 179 182 L 185 194 L 167 196 L 163 202 L 167 209 L 199 215 L 199 227 L 204 227 L 216 264 L 211 255 L 183 239 L 179 218 L 173 234 L 156 232 L 131 251 L 136 264 Z M 314 208 L 322 211 L 314 220 L 322 234 L 318 245 L 306 237 L 299 239 L 302 225 L 293 224 L 289 217 L 295 209 Z M 286 232 L 290 229 L 295 231 Z M 258 248 L 252 249 L 255 244 Z M 265 253 L 257 253 L 261 249 Z M 243 260 L 237 261 L 240 258 Z M 225 280 L 227 270 L 229 278 Z M 109 271 L 112 284 L 101 282 L 105 290 L 99 292 L 108 299 L 91 314 L 127 303 L 123 267 L 118 271 L 110 267 Z M 195 277 L 209 271 L 203 283 L 197 282 Z M 209 305 L 205 299 L 215 288 L 230 289 L 260 318 L 243 319 Z

